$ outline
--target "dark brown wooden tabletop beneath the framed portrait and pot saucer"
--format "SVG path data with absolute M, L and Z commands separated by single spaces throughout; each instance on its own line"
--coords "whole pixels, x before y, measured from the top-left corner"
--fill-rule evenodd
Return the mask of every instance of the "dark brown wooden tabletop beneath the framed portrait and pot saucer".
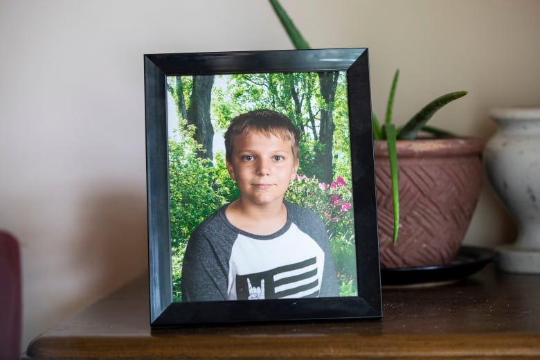
M 385 288 L 381 321 L 150 330 L 141 278 L 38 336 L 24 359 L 540 359 L 540 276 Z

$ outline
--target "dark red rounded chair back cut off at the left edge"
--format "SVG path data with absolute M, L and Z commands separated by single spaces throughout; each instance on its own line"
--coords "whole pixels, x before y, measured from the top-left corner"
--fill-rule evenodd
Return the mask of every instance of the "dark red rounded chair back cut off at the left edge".
M 0 230 L 0 359 L 21 356 L 21 260 L 19 243 Z

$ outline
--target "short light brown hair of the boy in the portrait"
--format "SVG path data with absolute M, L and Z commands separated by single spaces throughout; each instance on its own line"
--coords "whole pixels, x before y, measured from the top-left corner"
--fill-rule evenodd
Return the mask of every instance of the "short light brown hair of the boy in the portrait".
M 225 157 L 228 161 L 231 161 L 233 155 L 235 136 L 249 132 L 273 134 L 282 140 L 289 141 L 294 159 L 300 159 L 300 134 L 291 119 L 278 111 L 260 109 L 241 114 L 231 121 L 225 132 Z

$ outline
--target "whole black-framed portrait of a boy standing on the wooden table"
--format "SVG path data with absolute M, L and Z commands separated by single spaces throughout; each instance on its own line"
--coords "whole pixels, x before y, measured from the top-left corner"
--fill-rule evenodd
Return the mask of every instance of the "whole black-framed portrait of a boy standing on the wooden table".
M 144 71 L 150 325 L 380 318 L 368 49 Z

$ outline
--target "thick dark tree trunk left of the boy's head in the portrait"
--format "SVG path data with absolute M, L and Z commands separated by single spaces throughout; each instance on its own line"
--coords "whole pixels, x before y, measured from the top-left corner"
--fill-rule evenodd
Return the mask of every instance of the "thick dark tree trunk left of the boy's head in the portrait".
M 210 99 L 214 75 L 193 76 L 193 86 L 188 109 L 188 125 L 195 125 L 195 140 L 202 145 L 197 156 L 213 159 L 214 127 L 210 121 Z

